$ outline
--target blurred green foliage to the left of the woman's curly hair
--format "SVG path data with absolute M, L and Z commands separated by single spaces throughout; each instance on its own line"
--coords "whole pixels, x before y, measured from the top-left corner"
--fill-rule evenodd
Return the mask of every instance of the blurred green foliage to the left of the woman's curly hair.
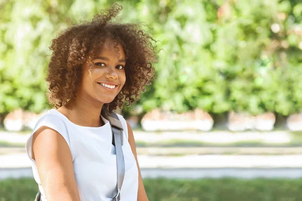
M 105 5 L 105 1 L 98 3 Z M 5 1 L 0 6 L 0 114 L 48 108 L 48 47 L 68 21 L 93 17 L 94 1 Z

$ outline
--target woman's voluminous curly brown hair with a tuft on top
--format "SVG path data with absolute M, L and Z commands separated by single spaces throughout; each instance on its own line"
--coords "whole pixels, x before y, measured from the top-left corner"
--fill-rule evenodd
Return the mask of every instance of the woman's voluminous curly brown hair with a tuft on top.
M 72 98 L 77 97 L 81 84 L 82 67 L 87 58 L 100 53 L 100 46 L 107 39 L 121 44 L 126 57 L 126 82 L 114 100 L 104 104 L 110 111 L 121 108 L 126 103 L 139 99 L 140 91 L 150 85 L 155 78 L 155 69 L 151 62 L 157 60 L 157 41 L 145 33 L 138 24 L 113 23 L 112 19 L 122 10 L 122 6 L 113 5 L 95 15 L 91 22 L 72 25 L 52 40 L 52 51 L 48 65 L 49 92 L 48 102 L 56 109 L 68 106 Z

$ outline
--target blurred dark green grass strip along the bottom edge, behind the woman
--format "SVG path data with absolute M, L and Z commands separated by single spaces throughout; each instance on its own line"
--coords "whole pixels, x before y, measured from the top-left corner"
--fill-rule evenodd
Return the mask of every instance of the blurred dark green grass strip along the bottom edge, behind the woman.
M 150 201 L 300 201 L 301 179 L 144 179 Z M 33 179 L 0 181 L 0 201 L 35 198 Z

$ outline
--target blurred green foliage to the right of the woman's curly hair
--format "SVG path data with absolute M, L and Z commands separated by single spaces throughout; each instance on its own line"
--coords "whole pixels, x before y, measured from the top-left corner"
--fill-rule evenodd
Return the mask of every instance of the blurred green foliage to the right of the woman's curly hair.
M 302 29 L 300 3 L 161 2 L 159 13 L 165 15 L 153 12 L 160 18 L 150 24 L 164 51 L 157 80 L 138 108 L 255 115 L 301 110 L 302 32 L 292 31 Z

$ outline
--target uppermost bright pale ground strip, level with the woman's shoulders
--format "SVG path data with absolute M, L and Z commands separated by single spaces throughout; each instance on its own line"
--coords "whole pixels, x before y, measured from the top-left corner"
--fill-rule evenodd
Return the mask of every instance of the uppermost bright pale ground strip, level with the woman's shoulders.
M 170 140 L 187 140 L 198 141 L 203 143 L 236 143 L 241 141 L 257 141 L 263 143 L 288 143 L 291 136 L 288 131 L 273 132 L 228 132 L 228 131 L 211 131 L 211 132 L 142 132 L 133 131 L 136 141 L 158 143 Z M 30 134 L 18 134 L 12 132 L 0 132 L 0 141 L 8 143 L 25 143 Z

